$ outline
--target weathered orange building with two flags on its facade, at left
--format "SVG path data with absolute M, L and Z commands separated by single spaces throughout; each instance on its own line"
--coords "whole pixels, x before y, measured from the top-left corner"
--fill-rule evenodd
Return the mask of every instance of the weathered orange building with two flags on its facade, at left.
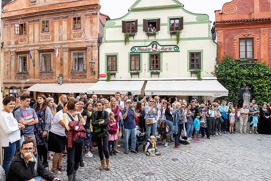
M 97 82 L 98 39 L 109 19 L 100 8 L 99 0 L 11 0 L 4 5 L 5 94 L 19 96 L 21 88 L 37 83 L 57 84 L 59 74 L 63 84 Z

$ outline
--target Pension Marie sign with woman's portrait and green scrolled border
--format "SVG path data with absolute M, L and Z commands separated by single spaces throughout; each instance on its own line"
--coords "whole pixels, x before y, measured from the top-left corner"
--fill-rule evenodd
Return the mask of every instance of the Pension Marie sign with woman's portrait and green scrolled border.
M 133 46 L 130 53 L 154 53 L 154 52 L 179 52 L 177 45 L 160 45 L 158 42 L 151 42 L 148 46 Z

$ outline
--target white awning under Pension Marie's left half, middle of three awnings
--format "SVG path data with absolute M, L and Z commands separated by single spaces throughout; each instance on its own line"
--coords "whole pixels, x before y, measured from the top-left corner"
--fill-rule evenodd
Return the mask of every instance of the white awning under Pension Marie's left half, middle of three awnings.
M 145 81 L 98 81 L 87 90 L 87 94 L 125 94 L 130 91 L 134 95 L 141 94 Z

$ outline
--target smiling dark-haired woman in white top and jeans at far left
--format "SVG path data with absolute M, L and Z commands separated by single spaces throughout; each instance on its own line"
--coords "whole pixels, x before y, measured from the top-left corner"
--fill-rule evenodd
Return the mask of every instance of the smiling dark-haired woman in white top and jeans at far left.
M 13 117 L 12 111 L 15 108 L 15 100 L 13 96 L 5 97 L 3 100 L 5 109 L 0 113 L 0 146 L 4 149 L 3 168 L 6 175 L 15 154 L 17 142 L 21 139 L 20 130 L 25 128 Z

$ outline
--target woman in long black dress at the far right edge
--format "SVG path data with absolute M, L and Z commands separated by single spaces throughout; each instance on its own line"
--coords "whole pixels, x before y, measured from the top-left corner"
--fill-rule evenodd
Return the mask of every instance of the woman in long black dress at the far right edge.
M 267 104 L 263 103 L 260 109 L 260 118 L 257 125 L 257 132 L 263 135 L 271 135 L 271 120 L 270 112 L 267 109 Z

